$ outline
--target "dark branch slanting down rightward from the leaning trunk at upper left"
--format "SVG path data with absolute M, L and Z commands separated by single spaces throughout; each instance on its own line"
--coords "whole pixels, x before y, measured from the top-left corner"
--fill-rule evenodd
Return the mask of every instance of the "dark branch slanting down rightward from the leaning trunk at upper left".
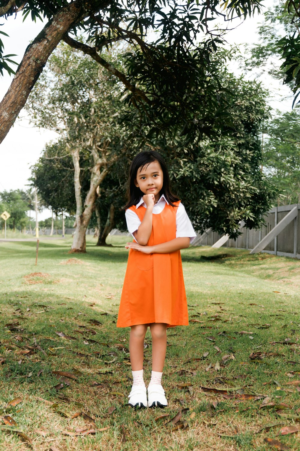
M 146 96 L 146 94 L 139 88 L 136 88 L 134 85 L 130 83 L 130 81 L 126 78 L 125 74 L 120 72 L 118 69 L 109 64 L 106 60 L 104 60 L 100 55 L 98 55 L 95 48 L 87 46 L 86 44 L 82 44 L 81 42 L 75 41 L 68 34 L 63 37 L 63 41 L 65 41 L 69 46 L 74 49 L 81 50 L 85 55 L 90 55 L 97 63 L 103 66 L 108 70 L 111 74 L 115 75 L 119 80 L 125 85 L 129 91 L 131 91 L 134 97 L 138 100 L 143 99 L 146 103 L 151 104 L 150 99 Z

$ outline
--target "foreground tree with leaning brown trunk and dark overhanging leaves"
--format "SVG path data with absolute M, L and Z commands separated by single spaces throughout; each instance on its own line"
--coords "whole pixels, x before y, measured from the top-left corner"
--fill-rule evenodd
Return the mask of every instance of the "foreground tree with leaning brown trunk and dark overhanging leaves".
M 200 135 L 209 132 L 210 128 L 203 127 L 201 115 L 199 118 L 198 115 L 203 102 L 216 105 L 210 95 L 207 72 L 210 72 L 210 59 L 217 49 L 216 44 L 224 39 L 223 31 L 212 32 L 209 24 L 220 17 L 228 20 L 233 19 L 235 14 L 246 17 L 255 10 L 260 12 L 263 1 L 224 2 L 223 11 L 219 4 L 219 0 L 4 1 L 0 14 L 5 18 L 22 11 L 25 16 L 31 14 L 33 20 L 44 15 L 49 22 L 27 47 L 11 86 L 0 103 L 0 143 L 61 39 L 89 54 L 119 78 L 129 93 L 128 101 L 139 108 L 141 120 L 155 124 L 155 129 L 160 124 L 166 128 L 168 121 L 177 120 L 187 131 L 197 131 Z M 92 45 L 74 40 L 66 34 L 69 30 L 73 35 L 78 30 L 84 30 Z M 152 30 L 158 31 L 158 37 L 154 42 L 147 42 L 147 34 Z M 99 55 L 104 46 L 119 40 L 130 41 L 136 47 L 134 54 L 127 55 L 130 67 L 128 77 Z M 0 62 L 3 69 L 8 69 L 1 44 Z M 206 89 L 207 96 L 203 99 L 203 94 L 197 99 L 201 100 L 200 108 L 193 111 L 197 105 L 193 102 L 193 90 L 196 78 L 199 82 L 199 77 L 195 77 L 198 74 L 201 74 L 201 88 Z M 138 87 L 141 77 L 144 81 L 142 89 Z M 187 101 L 189 96 L 192 100 Z M 219 111 L 217 109 L 216 115 L 207 121 L 219 120 L 221 112 L 220 108 Z

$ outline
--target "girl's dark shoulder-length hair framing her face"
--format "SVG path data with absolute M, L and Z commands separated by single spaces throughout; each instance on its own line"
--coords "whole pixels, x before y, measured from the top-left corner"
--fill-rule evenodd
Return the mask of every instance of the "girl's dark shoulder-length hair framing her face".
M 143 192 L 139 189 L 138 186 L 135 186 L 134 182 L 136 180 L 138 170 L 140 168 L 143 168 L 144 166 L 147 169 L 149 164 L 153 163 L 153 161 L 157 161 L 161 165 L 163 173 L 163 184 L 160 194 L 164 194 L 169 204 L 172 205 L 172 207 L 175 207 L 173 202 L 178 201 L 179 198 L 172 194 L 170 191 L 170 177 L 166 163 L 158 152 L 155 152 L 155 150 L 150 150 L 138 153 L 138 155 L 136 155 L 131 162 L 127 188 L 128 202 L 126 203 L 125 207 L 123 207 L 123 210 L 139 203 L 140 198 L 143 196 Z

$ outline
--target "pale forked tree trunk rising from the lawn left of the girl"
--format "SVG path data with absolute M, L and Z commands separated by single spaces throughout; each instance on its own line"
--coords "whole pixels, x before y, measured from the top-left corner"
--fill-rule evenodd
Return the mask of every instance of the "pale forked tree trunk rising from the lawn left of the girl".
M 85 198 L 84 211 L 82 211 L 81 202 L 81 184 L 80 184 L 80 166 L 79 166 L 79 149 L 71 151 L 74 164 L 74 185 L 76 198 L 76 230 L 73 237 L 72 247 L 69 253 L 86 252 L 85 251 L 85 233 L 89 225 L 90 218 L 95 208 L 95 200 L 97 198 L 97 187 L 107 175 L 107 168 L 104 167 L 100 172 L 103 162 L 98 161 L 91 172 L 90 189 Z

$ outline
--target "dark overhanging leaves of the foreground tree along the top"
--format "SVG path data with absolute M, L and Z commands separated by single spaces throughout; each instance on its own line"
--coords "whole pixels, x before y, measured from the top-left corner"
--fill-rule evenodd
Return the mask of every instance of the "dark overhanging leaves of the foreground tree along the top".
M 213 133 L 214 124 L 226 122 L 224 106 L 218 104 L 210 83 L 215 70 L 212 57 L 224 40 L 224 30 L 215 30 L 213 24 L 220 18 L 245 18 L 260 12 L 262 4 L 259 0 L 82 1 L 86 17 L 72 33 L 84 31 L 87 43 L 68 36 L 64 39 L 116 74 L 125 85 L 125 100 L 137 108 L 141 127 L 150 124 L 149 133 L 156 133 L 157 129 L 169 130 L 170 125 L 178 124 L 193 142 L 195 136 L 201 139 L 203 133 Z M 23 14 L 51 18 L 63 5 L 66 2 L 28 2 Z M 13 11 L 9 9 L 6 15 Z M 128 76 L 99 55 L 104 46 L 108 48 L 116 41 L 129 41 L 134 46 L 135 50 L 125 55 Z M 213 115 L 207 114 L 211 111 Z

